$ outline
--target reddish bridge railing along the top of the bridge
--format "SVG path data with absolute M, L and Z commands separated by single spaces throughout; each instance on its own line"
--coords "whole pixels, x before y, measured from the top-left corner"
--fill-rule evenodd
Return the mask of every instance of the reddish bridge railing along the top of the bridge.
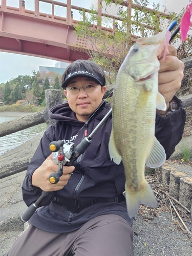
M 51 19 L 52 21 L 60 20 L 63 22 L 68 23 L 69 25 L 74 25 L 79 23 L 79 20 L 76 20 L 73 18 L 73 13 L 75 11 L 80 11 L 82 13 L 82 20 L 86 19 L 86 15 L 89 15 L 91 13 L 91 9 L 86 9 L 82 8 L 79 6 L 74 6 L 71 5 L 71 0 L 67 0 L 67 3 L 60 3 L 58 1 L 53 1 L 53 0 L 34 0 L 34 10 L 28 10 L 25 8 L 25 1 L 24 0 L 18 0 L 19 1 L 19 6 L 18 8 L 16 7 L 11 7 L 7 6 L 6 0 L 2 0 L 2 5 L 0 5 L 0 8 L 5 9 L 6 11 L 17 11 L 19 13 L 25 13 L 25 14 L 32 14 L 36 18 L 42 18 L 42 19 Z M 45 13 L 45 12 L 40 12 L 40 5 L 42 3 L 47 3 L 48 5 L 51 6 L 51 13 Z M 113 3 L 115 5 L 115 0 L 113 0 Z M 91 4 L 91 3 L 90 3 Z M 142 10 L 142 6 L 136 5 L 131 3 L 131 1 L 123 1 L 121 4 L 118 6 L 124 8 L 123 10 L 126 11 L 127 13 L 127 18 L 131 20 L 131 16 L 134 13 L 134 10 Z M 62 7 L 62 16 L 55 15 L 55 10 L 58 8 Z M 50 9 L 50 8 L 49 8 Z M 61 8 L 60 8 L 61 9 Z M 146 11 L 155 13 L 155 10 L 151 8 L 145 8 Z M 122 19 L 118 15 L 110 15 L 108 13 L 102 12 L 102 0 L 98 0 L 97 3 L 97 11 L 95 12 L 95 15 L 97 15 L 97 24 L 92 24 L 93 26 L 97 26 L 97 28 L 100 28 L 105 31 L 109 31 L 114 33 L 116 30 L 117 23 L 120 22 Z M 158 17 L 169 17 L 168 14 L 164 12 L 158 12 Z M 111 20 L 111 22 L 106 26 L 106 23 L 104 22 L 105 19 L 108 18 Z M 127 25 L 126 31 L 130 32 L 131 31 L 131 26 L 134 25 L 133 21 L 131 20 L 130 24 Z M 148 27 L 150 28 L 147 24 L 142 24 L 142 32 L 141 36 L 143 36 L 144 33 L 144 28 Z M 153 30 L 153 28 L 150 28 Z M 157 32 L 157 31 L 156 31 Z

